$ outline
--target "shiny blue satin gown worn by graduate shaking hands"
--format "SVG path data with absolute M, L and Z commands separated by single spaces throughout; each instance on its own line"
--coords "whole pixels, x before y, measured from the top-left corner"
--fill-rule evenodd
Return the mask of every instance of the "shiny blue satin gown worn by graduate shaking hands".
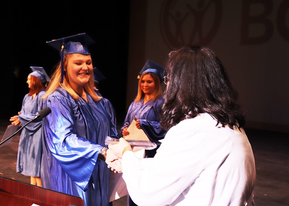
M 85 206 L 109 205 L 110 169 L 97 161 L 106 136 L 116 137 L 104 102 L 89 103 L 57 88 L 43 103 L 51 114 L 43 118 L 42 186 L 79 196 Z

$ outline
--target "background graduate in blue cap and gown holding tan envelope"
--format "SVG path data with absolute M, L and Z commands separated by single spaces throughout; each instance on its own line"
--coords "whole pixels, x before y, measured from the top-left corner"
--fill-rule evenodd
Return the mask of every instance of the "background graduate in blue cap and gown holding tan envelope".
M 159 123 L 159 110 L 163 103 L 161 83 L 163 82 L 164 68 L 151 60 L 148 60 L 138 75 L 138 93 L 135 100 L 130 104 L 126 118 L 121 127 L 123 136 L 129 135 L 127 128 L 135 117 L 136 127 L 142 129 L 148 138 L 157 144 L 153 150 L 145 150 L 145 158 L 154 157 L 165 137 L 166 131 Z M 127 195 L 127 205 L 136 205 Z

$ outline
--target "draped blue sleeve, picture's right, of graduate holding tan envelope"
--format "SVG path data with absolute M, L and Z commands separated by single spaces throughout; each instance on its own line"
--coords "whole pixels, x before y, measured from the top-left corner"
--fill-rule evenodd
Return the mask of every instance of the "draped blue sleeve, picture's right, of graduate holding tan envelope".
M 144 133 L 148 136 L 148 138 L 156 143 L 157 145 L 160 145 L 161 143 L 158 140 L 162 140 L 166 135 L 166 130 L 164 130 L 159 123 L 159 110 L 160 105 L 163 102 L 163 99 L 159 99 L 154 103 L 153 114 L 154 117 L 150 117 L 150 119 L 154 119 L 156 121 L 149 121 L 148 119 L 140 119 L 139 124 L 141 129 L 144 131 Z

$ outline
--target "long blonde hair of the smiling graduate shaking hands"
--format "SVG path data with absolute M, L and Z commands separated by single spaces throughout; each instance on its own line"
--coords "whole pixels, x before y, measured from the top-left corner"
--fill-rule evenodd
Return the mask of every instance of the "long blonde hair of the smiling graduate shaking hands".
M 61 77 L 61 62 L 55 66 L 55 71 L 52 74 L 51 80 L 48 84 L 48 88 L 46 93 L 42 96 L 43 99 L 46 99 L 52 92 L 56 90 L 57 87 L 64 88 L 74 100 L 79 100 L 79 95 L 76 93 L 76 91 L 73 90 L 73 88 L 69 84 L 69 79 L 67 76 L 67 72 L 65 71 L 65 68 L 67 68 L 68 59 L 71 56 L 71 54 L 67 54 L 63 58 L 64 63 L 64 76 L 63 76 L 63 83 L 60 83 L 60 77 Z M 89 93 L 89 95 L 92 97 L 93 100 L 98 101 L 102 97 L 98 96 L 94 91 L 94 76 L 93 74 L 90 76 L 89 81 L 83 86 L 85 91 Z

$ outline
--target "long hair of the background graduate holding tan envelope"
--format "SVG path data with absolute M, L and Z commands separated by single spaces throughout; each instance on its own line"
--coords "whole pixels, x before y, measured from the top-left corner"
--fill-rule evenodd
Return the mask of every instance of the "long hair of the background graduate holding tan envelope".
M 139 102 L 141 98 L 144 97 L 144 92 L 141 90 L 141 80 L 144 78 L 144 75 L 149 74 L 154 79 L 154 91 L 152 93 L 151 100 L 154 102 L 156 99 L 160 98 L 162 94 L 162 89 L 160 87 L 160 79 L 157 77 L 157 75 L 154 72 L 146 72 L 142 73 L 141 77 L 138 81 L 138 94 L 135 97 L 134 101 Z

